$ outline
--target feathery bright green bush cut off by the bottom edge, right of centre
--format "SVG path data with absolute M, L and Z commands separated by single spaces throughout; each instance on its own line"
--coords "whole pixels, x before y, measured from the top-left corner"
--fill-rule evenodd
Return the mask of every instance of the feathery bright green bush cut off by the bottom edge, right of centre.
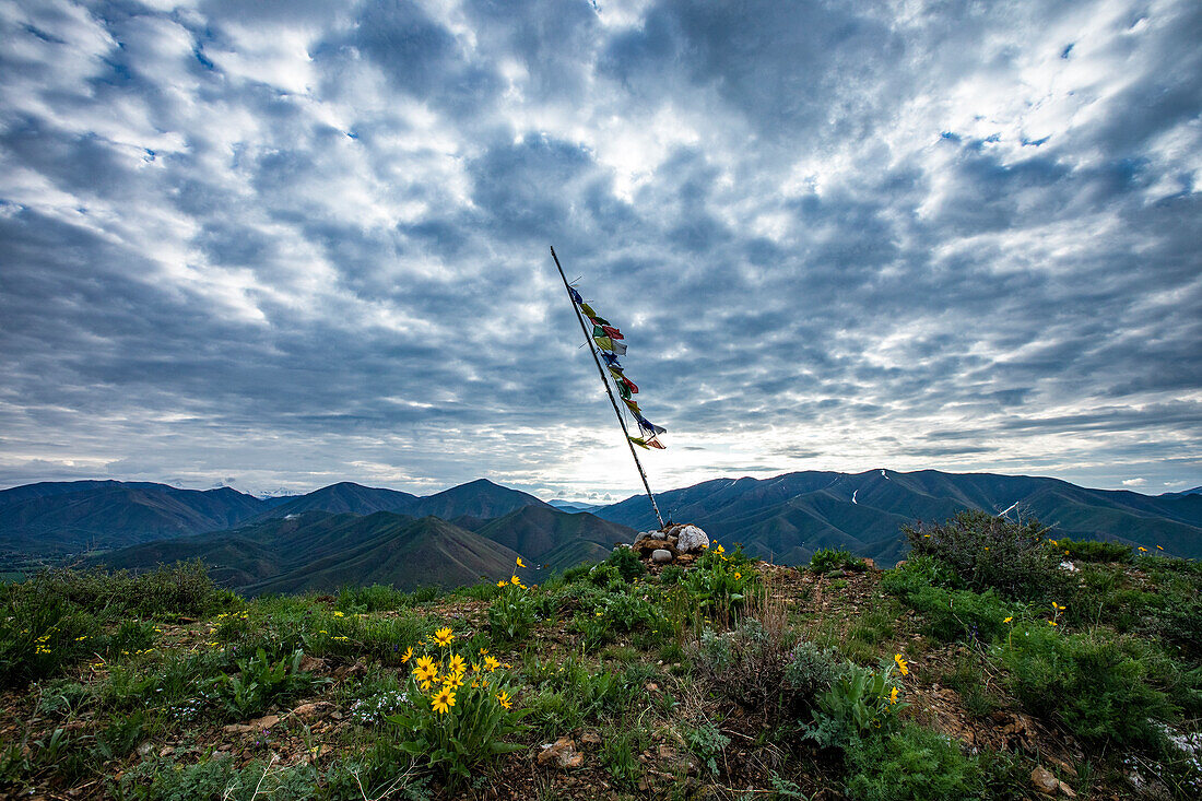
M 946 735 L 914 724 L 847 746 L 847 795 L 857 801 L 960 801 L 976 795 L 972 760 Z

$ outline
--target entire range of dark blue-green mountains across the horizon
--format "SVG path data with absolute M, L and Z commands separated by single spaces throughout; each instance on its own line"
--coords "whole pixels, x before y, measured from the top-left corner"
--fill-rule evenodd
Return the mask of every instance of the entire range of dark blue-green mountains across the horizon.
M 876 469 L 715 479 L 656 499 L 665 516 L 784 564 L 805 563 L 821 547 L 892 564 L 904 553 L 903 526 L 963 509 L 1037 517 L 1060 536 L 1202 556 L 1198 489 L 1152 497 L 1057 479 Z M 119 481 L 0 491 L 0 550 L 101 551 L 94 559 L 131 569 L 201 557 L 249 594 L 453 586 L 507 577 L 517 556 L 558 570 L 601 559 L 614 542 L 656 527 L 644 496 L 601 508 L 547 504 L 483 479 L 426 497 L 350 482 L 275 498 Z

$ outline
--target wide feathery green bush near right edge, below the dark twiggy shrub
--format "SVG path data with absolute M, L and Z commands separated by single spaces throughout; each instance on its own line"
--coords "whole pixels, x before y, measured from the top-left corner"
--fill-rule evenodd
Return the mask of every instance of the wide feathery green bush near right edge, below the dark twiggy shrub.
M 1149 683 L 1149 653 L 1137 640 L 1028 623 L 1014 628 L 1000 653 L 1023 706 L 1082 740 L 1152 746 L 1161 738 L 1154 722 L 1177 717 L 1168 696 Z

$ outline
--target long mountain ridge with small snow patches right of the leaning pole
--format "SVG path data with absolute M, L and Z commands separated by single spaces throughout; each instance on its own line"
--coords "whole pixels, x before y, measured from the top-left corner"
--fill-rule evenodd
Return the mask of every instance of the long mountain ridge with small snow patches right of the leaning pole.
M 657 493 L 656 500 L 665 516 L 696 523 L 710 536 L 743 542 L 749 553 L 785 564 L 808 562 L 820 547 L 846 547 L 892 564 L 904 550 L 898 534 L 903 524 L 941 522 L 964 509 L 1000 514 L 1014 504 L 1063 536 L 1159 545 L 1177 556 L 1202 557 L 1202 496 L 1087 489 L 1058 479 L 809 470 L 770 479 L 715 479 Z M 657 527 L 643 496 L 596 515 L 637 529 Z

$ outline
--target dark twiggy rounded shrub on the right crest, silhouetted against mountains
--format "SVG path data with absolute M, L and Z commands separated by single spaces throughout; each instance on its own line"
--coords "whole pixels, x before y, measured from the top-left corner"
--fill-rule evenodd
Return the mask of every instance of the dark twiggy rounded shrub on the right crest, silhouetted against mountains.
M 911 553 L 947 563 L 969 589 L 994 589 L 1004 598 L 1043 600 L 1063 595 L 1060 559 L 1048 552 L 1047 529 L 982 511 L 963 511 L 940 526 L 906 526 Z

